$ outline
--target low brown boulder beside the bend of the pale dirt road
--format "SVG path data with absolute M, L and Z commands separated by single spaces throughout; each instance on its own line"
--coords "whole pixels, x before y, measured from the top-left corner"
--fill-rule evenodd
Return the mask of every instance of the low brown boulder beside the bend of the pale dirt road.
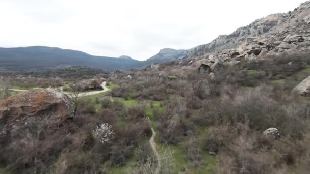
M 89 79 L 89 80 L 82 80 L 73 85 L 74 89 L 87 91 L 87 90 L 103 90 L 101 84 L 104 82 L 104 78 L 100 79 Z

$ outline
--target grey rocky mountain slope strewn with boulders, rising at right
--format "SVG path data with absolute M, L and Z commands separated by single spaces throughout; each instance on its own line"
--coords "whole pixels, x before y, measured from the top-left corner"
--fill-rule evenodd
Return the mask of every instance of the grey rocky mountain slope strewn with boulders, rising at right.
M 283 14 L 272 14 L 230 35 L 221 35 L 212 42 L 192 49 L 187 58 L 195 60 L 235 57 L 262 57 L 278 52 L 310 50 L 310 1 Z

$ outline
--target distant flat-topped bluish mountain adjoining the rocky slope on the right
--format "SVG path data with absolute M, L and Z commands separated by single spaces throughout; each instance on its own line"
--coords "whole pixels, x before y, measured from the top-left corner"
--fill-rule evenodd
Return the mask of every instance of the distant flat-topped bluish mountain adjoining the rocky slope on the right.
M 171 61 L 173 59 L 182 59 L 188 53 L 188 50 L 176 50 L 171 48 L 164 48 L 156 55 L 146 60 L 147 63 L 159 63 L 164 61 Z

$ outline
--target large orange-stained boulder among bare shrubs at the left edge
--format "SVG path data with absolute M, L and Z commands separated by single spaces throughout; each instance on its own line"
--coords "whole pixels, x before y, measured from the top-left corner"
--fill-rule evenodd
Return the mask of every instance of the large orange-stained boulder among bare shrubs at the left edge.
M 74 117 L 73 111 L 68 96 L 54 89 L 31 90 L 6 98 L 0 103 L 0 139 L 9 138 L 26 125 L 59 127 Z

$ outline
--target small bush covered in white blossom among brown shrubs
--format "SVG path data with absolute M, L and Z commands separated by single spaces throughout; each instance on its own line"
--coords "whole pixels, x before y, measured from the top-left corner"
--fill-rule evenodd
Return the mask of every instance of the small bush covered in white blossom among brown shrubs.
M 93 130 L 93 137 L 99 140 L 102 144 L 109 143 L 109 141 L 114 137 L 112 126 L 108 123 L 103 123 Z

